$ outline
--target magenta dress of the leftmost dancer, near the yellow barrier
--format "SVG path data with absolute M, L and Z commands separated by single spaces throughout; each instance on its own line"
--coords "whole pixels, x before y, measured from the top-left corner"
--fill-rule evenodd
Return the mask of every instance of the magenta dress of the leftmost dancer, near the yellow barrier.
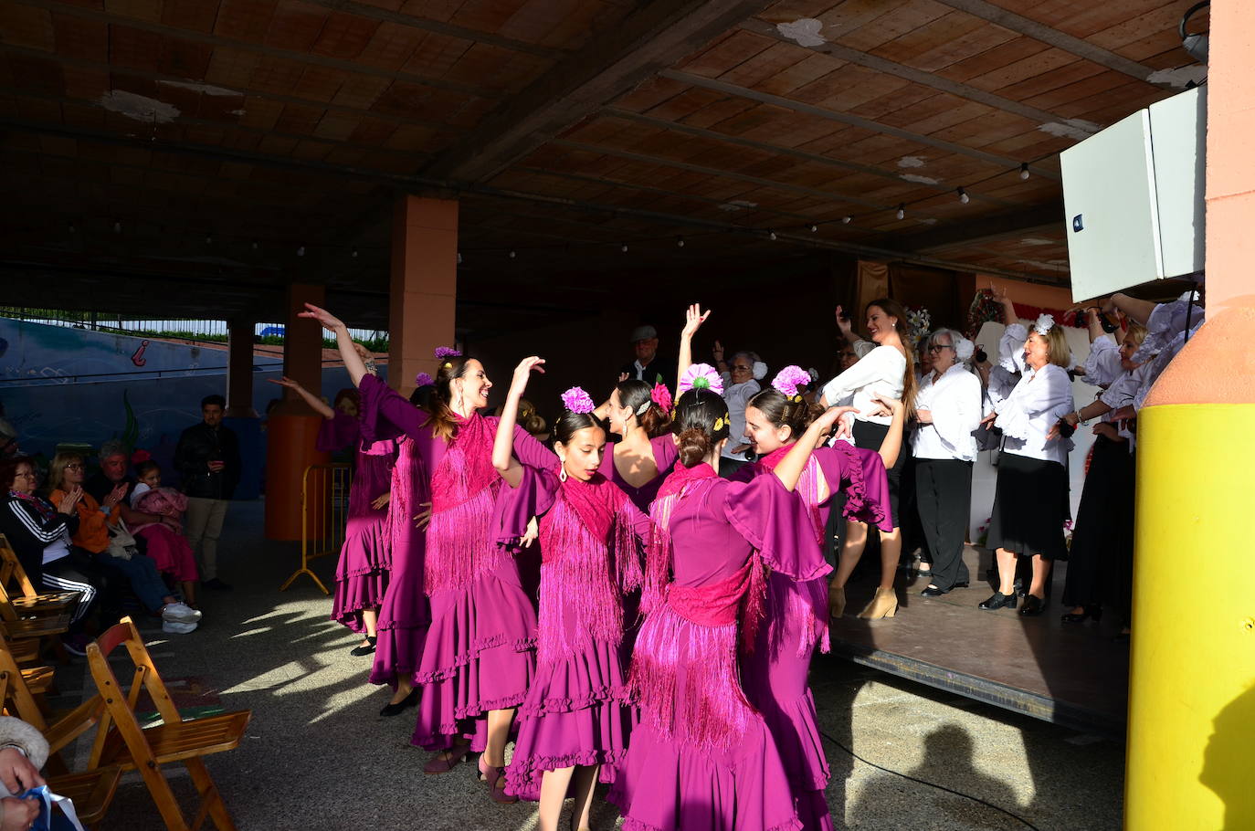
M 388 508 L 370 503 L 388 493 L 397 461 L 397 442 L 368 442 L 361 437 L 356 418 L 335 410 L 324 418 L 318 431 L 318 449 L 343 451 L 353 447 L 353 483 L 349 486 L 349 517 L 344 528 L 344 546 L 335 566 L 335 599 L 331 620 L 353 631 L 364 631 L 361 611 L 383 605 L 392 571 L 392 540 L 388 535 Z

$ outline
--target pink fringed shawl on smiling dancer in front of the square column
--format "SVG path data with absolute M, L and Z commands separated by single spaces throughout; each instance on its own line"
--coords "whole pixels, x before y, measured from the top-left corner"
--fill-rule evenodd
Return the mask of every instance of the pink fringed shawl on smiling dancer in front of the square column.
M 494 427 L 478 413 L 458 421 L 458 433 L 432 472 L 432 522 L 427 527 L 427 594 L 469 586 L 510 554 L 489 533 L 501 476 L 492 466 Z

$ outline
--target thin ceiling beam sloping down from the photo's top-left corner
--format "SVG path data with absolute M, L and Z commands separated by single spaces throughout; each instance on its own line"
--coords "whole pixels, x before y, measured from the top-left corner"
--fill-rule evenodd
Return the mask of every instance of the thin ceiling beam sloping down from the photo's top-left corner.
M 463 95 L 474 95 L 476 98 L 491 98 L 497 99 L 505 95 L 505 92 L 489 90 L 479 87 L 473 87 L 471 84 L 462 84 L 452 80 L 444 80 L 441 78 L 428 78 L 425 75 L 419 75 L 408 72 L 393 72 L 390 69 L 379 69 L 378 67 L 370 67 L 368 64 L 359 64 L 353 60 L 343 60 L 340 58 L 328 58 L 325 55 L 315 55 L 309 51 L 297 51 L 295 49 L 277 49 L 275 46 L 266 46 L 262 44 L 250 43 L 247 40 L 233 40 L 231 38 L 223 38 L 222 35 L 212 33 L 193 31 L 191 29 L 179 29 L 177 26 L 167 26 L 159 23 L 151 23 L 148 20 L 142 20 L 139 18 L 128 18 L 120 14 L 110 14 L 108 11 L 97 11 L 95 9 L 88 9 L 85 6 L 70 5 L 68 3 L 60 3 L 59 0 L 16 0 L 21 5 L 34 6 L 36 9 L 44 9 L 54 14 L 63 14 L 70 18 L 80 18 L 83 20 L 94 20 L 95 23 L 113 24 L 118 26 L 127 26 L 129 29 L 138 29 L 139 31 L 149 31 L 158 35 L 166 35 L 168 38 L 177 38 L 179 40 L 191 40 L 192 43 L 200 43 L 208 46 L 230 46 L 232 49 L 238 49 L 240 51 L 247 51 L 256 55 L 265 55 L 267 58 L 282 58 L 284 60 L 291 60 L 299 64 L 312 64 L 315 67 L 325 67 L 328 69 L 339 69 L 340 72 L 349 73 L 350 75 L 369 75 L 373 78 L 387 78 L 389 80 L 403 80 L 409 84 L 422 84 L 424 87 L 430 87 L 432 89 L 443 89 L 444 92 L 461 93 Z M 48 58 L 54 60 L 58 59 L 55 53 L 45 53 Z M 183 80 L 187 80 L 186 78 Z M 195 80 L 203 80 L 197 78 Z

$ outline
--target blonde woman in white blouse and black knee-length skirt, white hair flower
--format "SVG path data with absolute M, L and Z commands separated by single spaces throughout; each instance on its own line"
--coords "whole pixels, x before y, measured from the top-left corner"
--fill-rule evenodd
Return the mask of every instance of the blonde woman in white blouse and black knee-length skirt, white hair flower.
M 1042 315 L 1024 343 L 1024 377 L 983 423 L 1003 431 L 998 458 L 989 547 L 998 556 L 998 591 L 981 609 L 1014 609 L 1015 557 L 1033 559 L 1033 581 L 1022 615 L 1045 608 L 1054 560 L 1067 560 L 1063 523 L 1068 516 L 1068 451 L 1072 442 L 1052 428 L 1073 410 L 1072 380 L 1064 369 L 1072 353 L 1063 328 Z

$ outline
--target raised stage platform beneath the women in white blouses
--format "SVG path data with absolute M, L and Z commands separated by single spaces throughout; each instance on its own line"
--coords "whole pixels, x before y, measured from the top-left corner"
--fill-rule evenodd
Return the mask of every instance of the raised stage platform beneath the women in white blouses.
M 868 554 L 870 556 L 870 554 Z M 1073 729 L 1119 737 L 1128 705 L 1128 643 L 1118 614 L 1101 624 L 1064 624 L 1059 605 L 1067 564 L 1054 572 L 1053 598 L 1038 618 L 976 608 L 991 594 L 984 581 L 993 555 L 969 547 L 973 586 L 921 598 L 927 582 L 899 584 L 890 620 L 855 615 L 871 598 L 873 579 L 848 586 L 846 616 L 832 625 L 832 651 L 858 664 L 988 702 Z M 870 564 L 868 564 L 870 565 Z M 870 571 L 870 570 L 865 570 Z

